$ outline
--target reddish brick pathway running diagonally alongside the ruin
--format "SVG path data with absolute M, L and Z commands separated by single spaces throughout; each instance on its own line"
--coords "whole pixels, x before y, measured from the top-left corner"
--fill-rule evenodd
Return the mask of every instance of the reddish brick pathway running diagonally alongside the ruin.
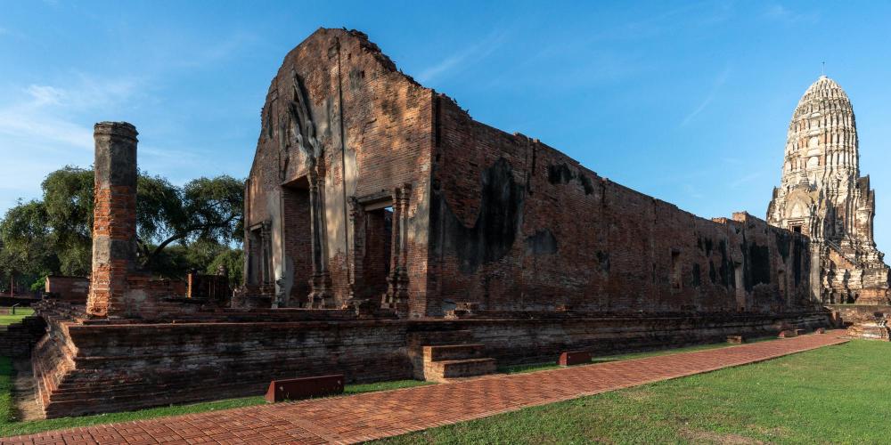
M 847 340 L 844 331 L 638 360 L 495 375 L 349 397 L 74 428 L 3 443 L 351 443 L 769 360 Z

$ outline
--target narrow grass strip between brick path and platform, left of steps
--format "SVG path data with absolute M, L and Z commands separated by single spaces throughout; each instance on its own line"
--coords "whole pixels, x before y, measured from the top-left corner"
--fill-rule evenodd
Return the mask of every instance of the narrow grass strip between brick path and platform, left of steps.
M 12 419 L 12 414 L 14 412 L 11 396 L 12 376 L 12 361 L 6 357 L 0 357 L 0 437 L 14 436 L 19 434 L 40 433 L 42 431 L 57 430 L 61 428 L 109 424 L 111 422 L 129 422 L 133 420 L 143 420 L 154 417 L 200 413 L 206 411 L 215 411 L 218 409 L 249 407 L 253 405 L 263 405 L 266 403 L 266 401 L 263 399 L 263 396 L 242 397 L 239 399 L 228 399 L 225 401 L 208 401 L 204 403 L 194 403 L 191 405 L 174 405 L 169 407 L 140 409 L 138 411 L 127 411 L 122 413 L 99 414 L 85 417 L 62 417 L 46 420 L 17 422 Z M 397 380 L 393 382 L 381 382 L 376 384 L 347 384 L 347 386 L 344 388 L 344 393 L 358 394 L 360 392 L 386 391 L 399 388 L 408 388 L 412 386 L 420 386 L 424 384 L 430 383 L 420 382 L 417 380 Z

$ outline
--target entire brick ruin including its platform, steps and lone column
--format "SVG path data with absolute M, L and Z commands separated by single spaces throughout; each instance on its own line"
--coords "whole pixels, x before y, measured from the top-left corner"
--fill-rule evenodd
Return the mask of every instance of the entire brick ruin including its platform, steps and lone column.
M 272 81 L 231 304 L 136 268 L 136 144 L 133 125 L 95 127 L 89 296 L 38 307 L 47 417 L 830 323 L 805 233 L 699 218 L 478 123 L 357 31 L 319 29 Z

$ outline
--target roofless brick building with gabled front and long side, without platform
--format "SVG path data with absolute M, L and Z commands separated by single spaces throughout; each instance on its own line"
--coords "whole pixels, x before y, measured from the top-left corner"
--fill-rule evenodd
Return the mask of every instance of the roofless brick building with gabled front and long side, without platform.
M 262 122 L 246 277 L 273 306 L 371 301 L 417 318 L 808 299 L 802 237 L 699 218 L 481 124 L 357 33 L 323 29 L 289 53 Z

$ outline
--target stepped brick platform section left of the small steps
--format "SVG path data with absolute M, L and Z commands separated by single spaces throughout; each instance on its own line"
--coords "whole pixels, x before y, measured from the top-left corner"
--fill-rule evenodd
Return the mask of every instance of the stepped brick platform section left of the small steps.
M 258 395 L 270 380 L 410 378 L 394 320 L 82 324 L 44 311 L 33 356 L 47 417 Z

